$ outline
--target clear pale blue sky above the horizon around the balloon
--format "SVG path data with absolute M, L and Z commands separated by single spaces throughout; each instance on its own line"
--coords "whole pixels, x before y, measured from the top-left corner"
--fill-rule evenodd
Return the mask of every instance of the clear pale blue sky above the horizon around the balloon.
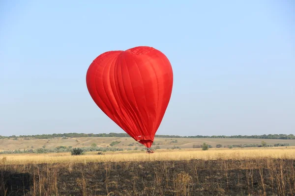
M 295 133 L 294 0 L 0 0 L 0 135 L 123 132 L 86 72 L 136 46 L 173 66 L 157 134 Z

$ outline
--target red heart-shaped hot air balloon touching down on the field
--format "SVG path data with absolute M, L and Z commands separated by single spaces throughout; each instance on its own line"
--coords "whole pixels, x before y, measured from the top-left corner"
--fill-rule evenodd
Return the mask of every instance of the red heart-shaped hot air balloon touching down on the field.
M 144 46 L 108 51 L 90 64 L 86 81 L 97 106 L 149 150 L 172 94 L 168 58 Z

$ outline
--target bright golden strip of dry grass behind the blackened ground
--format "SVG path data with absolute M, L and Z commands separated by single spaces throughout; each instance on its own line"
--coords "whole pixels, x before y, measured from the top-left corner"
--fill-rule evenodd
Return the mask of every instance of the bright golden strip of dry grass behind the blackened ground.
M 5 157 L 5 158 L 4 158 Z M 87 152 L 85 155 L 72 156 L 70 153 L 47 154 L 1 154 L 0 161 L 4 164 L 40 164 L 40 163 L 87 163 L 87 162 L 120 162 L 120 161 L 162 161 L 162 160 L 216 160 L 216 159 L 256 159 L 256 158 L 284 158 L 295 159 L 295 147 L 268 148 L 210 148 L 200 149 L 156 150 L 153 154 L 145 151 Z

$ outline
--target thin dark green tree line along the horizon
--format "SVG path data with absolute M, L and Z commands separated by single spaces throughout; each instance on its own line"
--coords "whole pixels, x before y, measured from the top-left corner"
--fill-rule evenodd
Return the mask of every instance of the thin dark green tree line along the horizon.
M 14 139 L 23 138 L 24 140 L 30 139 L 53 139 L 53 138 L 80 138 L 80 137 L 130 137 L 127 133 L 54 133 L 54 134 L 42 134 L 42 135 L 20 135 L 20 136 L 0 136 L 0 139 Z M 155 135 L 156 138 L 249 138 L 249 139 L 283 139 L 283 140 L 295 140 L 293 134 L 268 134 L 268 135 L 213 135 L 213 136 L 178 136 L 178 135 Z

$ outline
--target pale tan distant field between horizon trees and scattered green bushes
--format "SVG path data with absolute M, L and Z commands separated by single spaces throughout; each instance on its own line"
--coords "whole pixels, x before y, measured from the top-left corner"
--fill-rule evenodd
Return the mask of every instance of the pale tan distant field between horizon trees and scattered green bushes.
M 89 147 L 92 143 L 95 143 L 98 147 L 110 147 L 113 141 L 120 142 L 113 147 L 119 147 L 123 149 L 134 149 L 138 147 L 139 149 L 144 148 L 143 145 L 134 141 L 132 138 L 116 138 L 116 137 L 84 137 L 84 138 L 56 138 L 56 139 L 45 139 L 45 140 L 24 140 L 23 138 L 18 138 L 18 140 L 13 139 L 3 139 L 0 140 L 0 150 L 16 150 L 16 149 L 36 149 L 45 148 L 53 149 L 58 146 L 72 146 L 72 147 Z M 192 148 L 193 145 L 202 145 L 206 142 L 212 147 L 216 147 L 216 144 L 221 144 L 222 147 L 229 145 L 238 144 L 261 144 L 265 141 L 267 144 L 278 144 L 278 143 L 289 143 L 290 146 L 295 146 L 295 140 L 277 140 L 277 139 L 234 139 L 234 138 L 155 138 L 153 146 L 159 146 L 162 149 L 167 149 L 171 147 L 181 147 L 181 148 Z

